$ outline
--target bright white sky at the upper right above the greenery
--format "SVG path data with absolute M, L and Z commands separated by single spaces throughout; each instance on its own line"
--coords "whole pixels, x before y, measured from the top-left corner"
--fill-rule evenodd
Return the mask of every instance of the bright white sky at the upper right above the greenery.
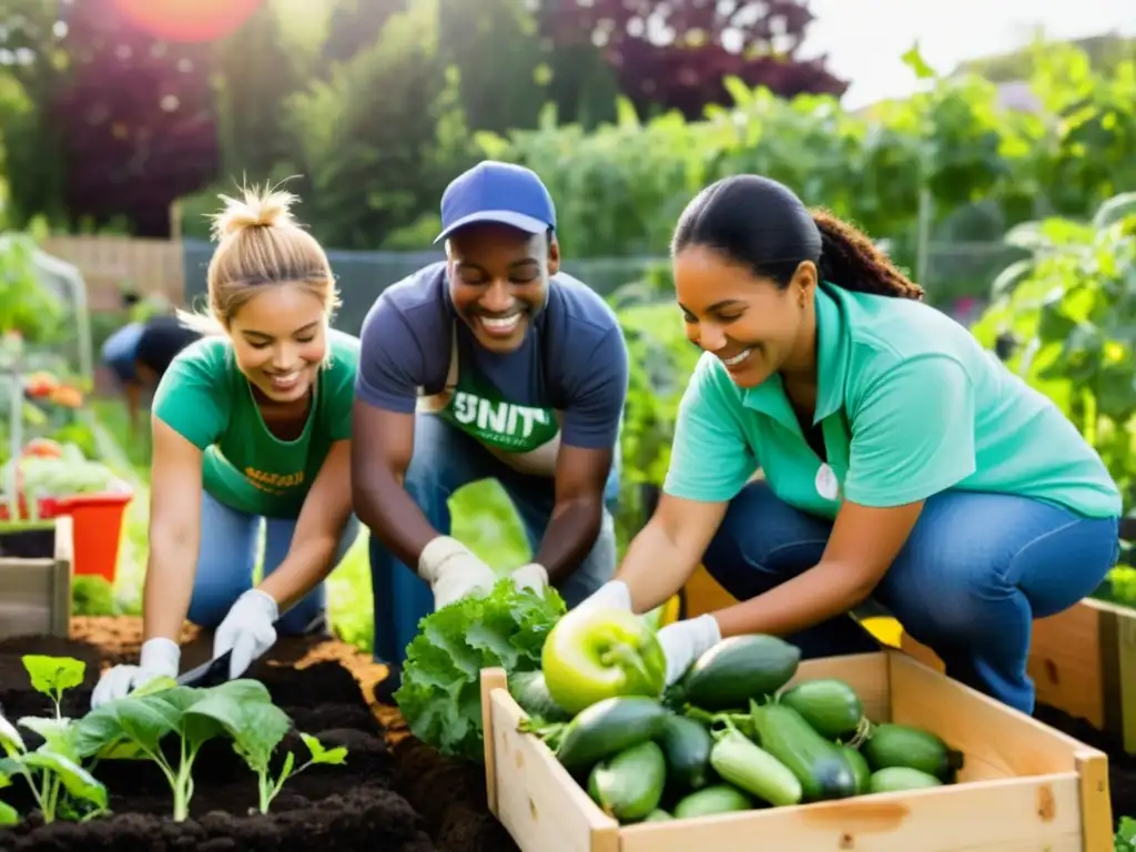
M 960 61 L 1027 45 L 1041 25 L 1050 37 L 1116 31 L 1136 35 L 1136 0 L 811 0 L 802 57 L 828 55 L 828 68 L 850 80 L 842 99 L 858 109 L 919 87 L 900 55 L 919 41 L 938 72 Z

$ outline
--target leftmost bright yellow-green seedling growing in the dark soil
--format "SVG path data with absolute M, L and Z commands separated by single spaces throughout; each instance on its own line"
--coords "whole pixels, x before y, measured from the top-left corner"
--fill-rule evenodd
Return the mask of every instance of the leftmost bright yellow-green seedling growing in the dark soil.
M 0 775 L 6 779 L 0 786 L 10 784 L 11 776 L 22 775 L 44 822 L 56 820 L 65 792 L 87 810 L 82 819 L 95 817 L 107 809 L 107 788 L 80 765 L 72 744 L 72 720 L 64 717 L 60 709 L 64 693 L 83 683 L 86 665 L 70 658 L 39 654 L 28 654 L 23 662 L 33 688 L 51 699 L 55 711 L 49 717 L 25 716 L 17 720 L 18 725 L 43 737 L 43 744 L 35 751 L 28 751 L 19 730 L 0 716 L 0 747 L 7 755 L 0 760 Z M 68 810 L 77 812 L 78 809 Z M 8 816 L 0 813 L 0 821 Z

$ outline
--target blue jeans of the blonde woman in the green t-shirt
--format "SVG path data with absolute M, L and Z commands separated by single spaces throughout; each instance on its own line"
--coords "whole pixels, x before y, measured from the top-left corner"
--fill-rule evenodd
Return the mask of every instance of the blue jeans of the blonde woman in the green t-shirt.
M 229 607 L 252 588 L 252 570 L 257 563 L 260 518 L 245 515 L 219 502 L 208 492 L 201 495 L 201 546 L 198 571 L 193 579 L 189 620 L 199 627 L 215 629 Z M 264 576 L 275 571 L 287 556 L 295 532 L 294 518 L 265 518 Z M 352 515 L 343 528 L 335 553 L 339 565 L 359 535 L 359 521 Z M 318 626 L 326 613 L 327 591 L 320 583 L 287 612 L 281 616 L 276 632 L 296 636 Z

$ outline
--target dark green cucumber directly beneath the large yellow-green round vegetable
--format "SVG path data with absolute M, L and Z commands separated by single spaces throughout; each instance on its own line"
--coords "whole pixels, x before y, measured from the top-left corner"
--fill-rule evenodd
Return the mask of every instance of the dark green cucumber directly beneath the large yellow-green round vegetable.
M 669 711 L 644 695 L 598 701 L 565 726 L 557 759 L 571 772 L 586 771 L 607 757 L 658 740 Z

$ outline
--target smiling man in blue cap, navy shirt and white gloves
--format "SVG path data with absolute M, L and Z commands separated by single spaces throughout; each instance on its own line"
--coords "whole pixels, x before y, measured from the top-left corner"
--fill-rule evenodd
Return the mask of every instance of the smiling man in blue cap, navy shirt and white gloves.
M 385 290 L 360 335 L 351 476 L 386 693 L 419 619 L 498 579 L 449 534 L 463 485 L 496 479 L 516 507 L 534 551 L 511 573 L 518 586 L 552 584 L 573 607 L 616 562 L 605 500 L 627 350 L 615 312 L 559 272 L 556 208 L 529 169 L 460 175 L 442 226 L 446 259 Z

